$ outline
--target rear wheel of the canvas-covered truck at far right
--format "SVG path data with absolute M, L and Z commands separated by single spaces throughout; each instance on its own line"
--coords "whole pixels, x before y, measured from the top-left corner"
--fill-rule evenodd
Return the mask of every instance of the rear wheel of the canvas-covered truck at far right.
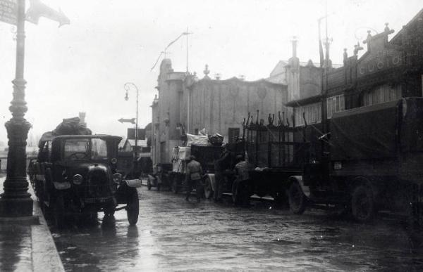
M 363 185 L 355 187 L 351 197 L 351 209 L 355 220 L 362 223 L 372 221 L 376 214 L 372 188 Z

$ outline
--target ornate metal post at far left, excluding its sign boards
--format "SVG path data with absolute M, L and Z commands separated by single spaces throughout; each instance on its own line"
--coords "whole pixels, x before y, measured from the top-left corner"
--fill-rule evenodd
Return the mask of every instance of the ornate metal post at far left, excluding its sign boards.
M 23 79 L 25 56 L 25 1 L 18 1 L 16 34 L 16 77 L 13 80 L 13 100 L 9 110 L 12 118 L 6 122 L 8 136 L 7 174 L 4 193 L 0 199 L 1 217 L 32 216 L 32 199 L 26 179 L 26 140 L 31 124 L 24 118 L 25 79 Z

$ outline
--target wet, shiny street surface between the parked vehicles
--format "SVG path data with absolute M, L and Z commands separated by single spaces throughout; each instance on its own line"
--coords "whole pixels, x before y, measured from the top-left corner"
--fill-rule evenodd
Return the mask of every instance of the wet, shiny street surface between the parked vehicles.
M 94 226 L 52 228 L 67 271 L 422 271 L 423 245 L 395 220 L 372 225 L 323 212 L 293 216 L 271 202 L 250 208 L 185 202 L 140 188 L 140 219 L 125 211 Z

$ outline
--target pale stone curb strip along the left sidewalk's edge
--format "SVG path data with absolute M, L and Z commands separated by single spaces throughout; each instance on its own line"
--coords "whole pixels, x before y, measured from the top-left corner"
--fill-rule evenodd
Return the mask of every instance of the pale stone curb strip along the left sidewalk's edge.
M 53 237 L 42 214 L 41 207 L 32 186 L 28 186 L 33 202 L 34 216 L 38 216 L 39 224 L 31 226 L 32 239 L 32 271 L 35 272 L 64 272 L 59 252 L 57 252 Z

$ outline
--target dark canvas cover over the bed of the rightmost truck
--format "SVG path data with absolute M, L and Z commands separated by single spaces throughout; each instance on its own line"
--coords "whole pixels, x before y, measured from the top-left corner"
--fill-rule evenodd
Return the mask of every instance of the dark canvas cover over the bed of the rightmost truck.
M 395 157 L 400 101 L 336 112 L 331 118 L 331 160 Z

